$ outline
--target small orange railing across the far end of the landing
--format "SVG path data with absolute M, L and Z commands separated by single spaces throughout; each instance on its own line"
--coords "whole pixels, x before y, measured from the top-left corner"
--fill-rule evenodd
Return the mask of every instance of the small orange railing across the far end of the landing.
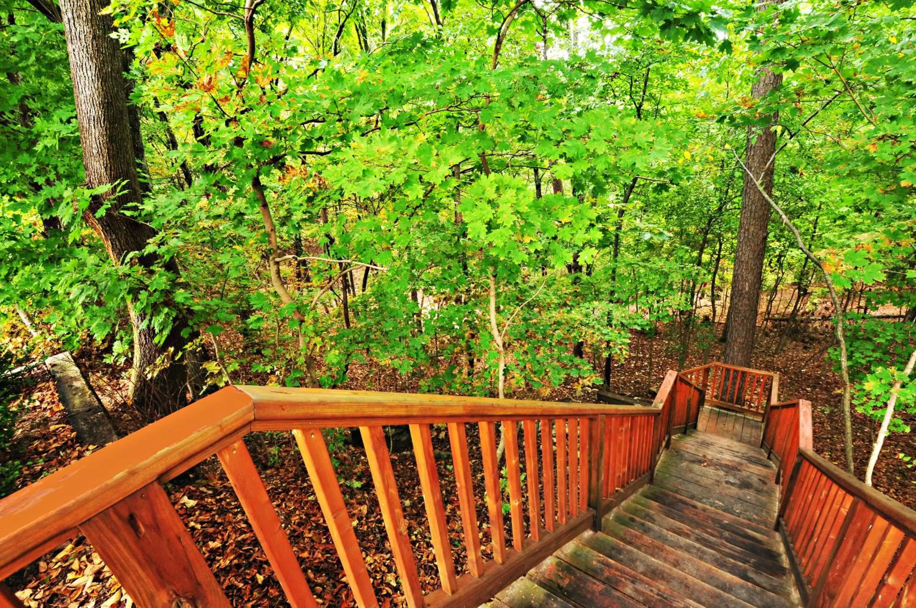
M 711 363 L 681 375 L 705 391 L 706 405 L 763 416 L 780 392 L 780 375 L 737 365 Z

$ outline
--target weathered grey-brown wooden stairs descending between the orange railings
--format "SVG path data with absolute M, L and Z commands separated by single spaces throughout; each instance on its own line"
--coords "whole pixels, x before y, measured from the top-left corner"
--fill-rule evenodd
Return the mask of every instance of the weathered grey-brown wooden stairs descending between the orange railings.
M 496 595 L 494 608 L 801 605 L 765 452 L 703 431 L 676 436 L 655 480 Z

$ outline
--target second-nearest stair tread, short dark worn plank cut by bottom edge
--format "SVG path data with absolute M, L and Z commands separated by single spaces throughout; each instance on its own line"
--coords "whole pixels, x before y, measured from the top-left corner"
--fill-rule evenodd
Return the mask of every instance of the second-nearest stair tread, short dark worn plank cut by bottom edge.
M 556 596 L 583 608 L 639 608 L 643 605 L 553 556 L 529 570 L 528 578 Z

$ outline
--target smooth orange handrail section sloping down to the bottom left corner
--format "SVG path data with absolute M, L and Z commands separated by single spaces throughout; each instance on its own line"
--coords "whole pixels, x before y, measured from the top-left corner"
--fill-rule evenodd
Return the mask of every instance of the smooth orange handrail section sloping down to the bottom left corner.
M 176 465 L 188 468 L 213 455 L 215 445 L 246 432 L 253 418 L 251 398 L 227 387 L 7 496 L 0 501 L 0 579 L 36 548 Z

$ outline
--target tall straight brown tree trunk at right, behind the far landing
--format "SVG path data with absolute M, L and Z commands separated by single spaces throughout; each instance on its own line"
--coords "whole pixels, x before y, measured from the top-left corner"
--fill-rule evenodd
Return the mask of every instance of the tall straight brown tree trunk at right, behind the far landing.
M 751 87 L 755 99 L 765 97 L 779 88 L 781 74 L 769 70 L 759 72 L 758 81 Z M 776 133 L 772 129 L 779 120 L 774 113 L 765 125 L 747 127 L 747 168 L 758 182 L 771 194 L 773 191 L 773 166 L 776 151 Z M 763 277 L 763 260 L 767 254 L 769 202 L 760 194 L 753 180 L 744 176 L 741 194 L 741 221 L 735 253 L 735 270 L 732 275 L 732 301 L 728 309 L 727 335 L 724 361 L 726 364 L 749 366 L 754 352 L 754 333 L 757 330 L 760 285 Z

